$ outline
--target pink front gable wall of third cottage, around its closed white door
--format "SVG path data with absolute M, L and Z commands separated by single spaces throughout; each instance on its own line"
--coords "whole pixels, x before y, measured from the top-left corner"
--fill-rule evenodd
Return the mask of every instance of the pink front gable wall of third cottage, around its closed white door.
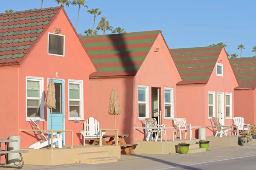
M 205 114 L 206 125 L 211 126 L 212 122 L 208 119 L 208 91 L 215 91 L 215 116 L 217 117 L 217 92 L 224 92 L 224 124 L 232 125 L 233 120 L 226 118 L 226 93 L 232 93 L 232 115 L 234 115 L 234 88 L 238 86 L 235 74 L 230 65 L 226 51 L 222 48 L 217 63 L 223 64 L 223 77 L 216 75 L 216 65 L 212 71 L 211 77 L 205 87 Z M 212 136 L 212 129 L 206 130 L 207 136 Z

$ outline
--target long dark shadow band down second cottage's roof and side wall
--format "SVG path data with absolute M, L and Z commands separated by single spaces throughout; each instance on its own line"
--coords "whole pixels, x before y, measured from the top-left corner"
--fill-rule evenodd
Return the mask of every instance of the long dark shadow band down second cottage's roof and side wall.
M 126 34 L 126 33 L 125 33 Z M 116 37 L 117 36 L 117 37 Z M 128 45 L 125 43 L 125 37 L 122 34 L 112 34 L 110 35 L 113 46 L 116 48 L 116 55 L 120 59 L 120 67 L 123 67 L 125 75 L 131 75 L 136 70 L 135 63 L 131 60 L 131 54 L 128 49 Z M 116 45 L 116 42 L 122 42 L 121 45 Z M 114 87 L 113 87 L 114 88 Z M 125 91 L 123 103 L 125 103 L 122 110 L 125 111 L 124 120 L 122 122 L 122 132 L 129 134 L 129 137 L 125 139 L 126 143 L 131 143 L 133 141 L 133 84 L 131 78 L 125 78 Z M 118 94 L 118 91 L 117 91 Z M 120 128 L 120 127 L 117 127 Z

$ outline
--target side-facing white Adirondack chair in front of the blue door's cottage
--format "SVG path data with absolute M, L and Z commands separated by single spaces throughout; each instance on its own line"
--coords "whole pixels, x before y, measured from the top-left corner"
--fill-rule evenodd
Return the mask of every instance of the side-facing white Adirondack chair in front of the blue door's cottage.
M 35 130 L 40 130 L 38 125 L 33 121 L 30 120 L 32 129 Z M 38 135 L 41 138 L 41 141 L 36 142 L 35 144 L 32 144 L 29 146 L 29 148 L 34 148 L 34 149 L 40 149 L 42 147 L 46 147 L 49 144 L 51 144 L 51 137 L 46 138 L 44 134 L 49 134 L 49 132 L 35 132 L 36 135 Z M 62 135 L 61 133 L 58 133 L 56 136 L 56 133 L 53 133 L 53 142 L 52 142 L 52 147 L 55 147 L 55 143 L 58 142 L 58 148 L 62 148 Z

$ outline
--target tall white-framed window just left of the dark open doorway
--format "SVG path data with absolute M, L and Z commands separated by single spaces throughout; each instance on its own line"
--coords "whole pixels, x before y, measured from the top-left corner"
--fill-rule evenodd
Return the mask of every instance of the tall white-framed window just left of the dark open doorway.
M 138 116 L 139 120 L 149 117 L 148 86 L 138 85 Z

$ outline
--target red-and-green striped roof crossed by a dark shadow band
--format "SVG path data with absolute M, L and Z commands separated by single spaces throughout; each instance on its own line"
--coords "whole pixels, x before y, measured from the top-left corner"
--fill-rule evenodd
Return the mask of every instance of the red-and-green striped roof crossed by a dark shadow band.
M 90 77 L 134 76 L 160 31 L 81 37 L 98 71 Z

